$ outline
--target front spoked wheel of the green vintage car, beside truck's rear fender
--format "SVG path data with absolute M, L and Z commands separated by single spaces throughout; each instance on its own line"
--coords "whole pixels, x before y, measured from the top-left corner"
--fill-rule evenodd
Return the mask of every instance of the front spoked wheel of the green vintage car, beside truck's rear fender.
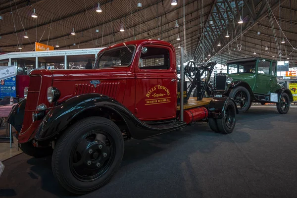
M 238 112 L 246 112 L 249 108 L 249 104 L 251 101 L 247 88 L 242 86 L 236 87 L 230 92 L 229 97 L 235 100 Z

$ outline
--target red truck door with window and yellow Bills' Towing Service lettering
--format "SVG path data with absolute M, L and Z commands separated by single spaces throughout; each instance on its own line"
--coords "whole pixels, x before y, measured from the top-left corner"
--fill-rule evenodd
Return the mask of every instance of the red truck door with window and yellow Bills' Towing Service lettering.
M 143 120 L 176 116 L 177 73 L 175 52 L 161 45 L 144 45 L 135 66 L 135 115 Z

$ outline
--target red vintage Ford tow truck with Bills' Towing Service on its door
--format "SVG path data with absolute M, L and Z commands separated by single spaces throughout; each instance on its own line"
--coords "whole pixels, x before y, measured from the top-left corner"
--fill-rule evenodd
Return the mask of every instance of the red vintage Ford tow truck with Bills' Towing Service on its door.
M 89 193 L 116 173 L 125 140 L 196 121 L 208 121 L 215 132 L 233 132 L 235 101 L 203 98 L 201 71 L 209 79 L 215 63 L 199 65 L 188 67 L 196 78 L 184 91 L 183 77 L 177 80 L 174 47 L 138 40 L 102 49 L 93 69 L 33 70 L 26 99 L 8 118 L 17 131 L 14 143 L 34 157 L 52 154 L 52 172 L 61 186 L 75 194 Z M 198 97 L 187 96 L 195 87 Z

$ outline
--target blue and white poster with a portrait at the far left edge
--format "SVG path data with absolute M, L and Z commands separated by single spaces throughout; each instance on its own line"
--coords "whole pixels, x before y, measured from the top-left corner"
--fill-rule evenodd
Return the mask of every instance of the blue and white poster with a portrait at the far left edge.
M 0 67 L 0 98 L 3 98 L 5 96 L 16 97 L 15 75 L 15 66 Z

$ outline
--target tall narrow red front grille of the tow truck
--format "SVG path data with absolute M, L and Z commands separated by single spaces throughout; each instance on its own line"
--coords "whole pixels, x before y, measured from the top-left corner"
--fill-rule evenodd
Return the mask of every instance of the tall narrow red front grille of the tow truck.
M 35 111 L 38 99 L 39 92 L 41 88 L 41 76 L 30 76 L 29 81 L 29 91 L 27 95 L 25 114 L 24 114 L 24 122 L 21 132 L 24 133 L 32 124 L 32 112 Z

